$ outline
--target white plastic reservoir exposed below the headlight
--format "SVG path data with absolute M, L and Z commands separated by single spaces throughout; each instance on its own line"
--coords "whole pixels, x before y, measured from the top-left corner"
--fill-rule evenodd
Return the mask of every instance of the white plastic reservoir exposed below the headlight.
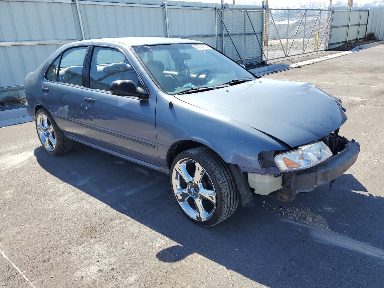
M 273 177 L 273 174 L 260 175 L 248 173 L 248 183 L 255 189 L 256 194 L 268 195 L 281 188 L 282 174 L 279 177 Z

